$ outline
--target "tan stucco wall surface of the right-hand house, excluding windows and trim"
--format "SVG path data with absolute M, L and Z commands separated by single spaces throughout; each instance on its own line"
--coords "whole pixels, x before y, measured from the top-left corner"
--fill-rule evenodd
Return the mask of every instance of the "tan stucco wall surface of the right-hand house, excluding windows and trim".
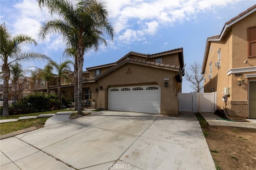
M 231 100 L 248 100 L 248 78 L 245 74 L 253 74 L 256 72 L 241 72 L 243 74 L 244 84 L 238 86 L 236 80 L 239 76 L 235 74 L 227 74 L 227 71 L 232 68 L 251 67 L 256 66 L 256 57 L 248 58 L 248 41 L 247 41 L 247 28 L 256 25 L 256 12 L 250 14 L 246 18 L 234 23 L 228 33 L 222 37 L 220 41 L 211 41 L 210 46 L 212 52 L 209 51 L 208 60 L 206 65 L 207 75 L 206 82 L 204 82 L 204 92 L 210 92 L 210 88 L 217 91 L 217 109 L 221 110 L 222 92 L 223 88 L 230 87 L 230 96 L 228 101 Z M 215 67 L 215 62 L 218 61 L 218 49 L 221 48 L 220 68 Z M 244 63 L 244 61 L 248 63 Z M 209 80 L 209 63 L 212 61 L 212 79 Z M 252 78 L 255 79 L 255 78 Z M 251 80 L 251 79 L 250 79 Z

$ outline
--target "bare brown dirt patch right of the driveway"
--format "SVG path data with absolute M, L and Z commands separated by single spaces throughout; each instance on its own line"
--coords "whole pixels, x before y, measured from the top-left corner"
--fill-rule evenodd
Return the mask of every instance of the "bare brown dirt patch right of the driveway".
M 217 170 L 256 169 L 256 129 L 202 127 Z

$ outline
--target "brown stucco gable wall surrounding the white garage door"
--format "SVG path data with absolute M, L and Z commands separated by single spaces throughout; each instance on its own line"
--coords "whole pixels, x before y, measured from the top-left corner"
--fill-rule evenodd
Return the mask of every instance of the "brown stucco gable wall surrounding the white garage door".
M 128 68 L 132 73 L 126 74 Z M 177 84 L 173 82 L 176 81 L 173 80 L 176 75 L 177 72 L 170 70 L 126 63 L 97 80 L 103 87 L 103 90 L 98 92 L 97 106 L 100 104 L 105 109 L 108 108 L 108 87 L 158 84 L 161 87 L 160 113 L 178 115 L 178 100 L 172 86 Z M 164 78 L 170 78 L 167 88 L 164 87 Z

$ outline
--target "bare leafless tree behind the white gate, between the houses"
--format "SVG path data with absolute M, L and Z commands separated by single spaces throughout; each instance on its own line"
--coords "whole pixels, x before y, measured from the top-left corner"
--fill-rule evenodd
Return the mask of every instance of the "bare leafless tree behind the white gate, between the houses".
M 202 70 L 202 64 L 199 64 L 197 62 L 194 62 L 189 66 L 189 72 L 186 71 L 185 78 L 189 82 L 191 82 L 191 88 L 195 90 L 195 92 L 200 92 L 202 88 L 204 87 L 203 85 L 203 79 L 204 75 L 201 74 Z

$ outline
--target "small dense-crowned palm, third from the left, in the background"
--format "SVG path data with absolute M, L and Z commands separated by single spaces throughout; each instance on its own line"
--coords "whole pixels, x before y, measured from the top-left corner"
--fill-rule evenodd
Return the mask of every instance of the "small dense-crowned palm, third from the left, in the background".
M 36 70 L 31 72 L 33 80 L 41 78 L 41 81 L 45 80 L 47 82 L 47 95 L 50 94 L 50 81 L 54 79 L 54 74 L 52 73 L 53 67 L 50 64 L 46 64 L 44 68 L 35 67 Z

